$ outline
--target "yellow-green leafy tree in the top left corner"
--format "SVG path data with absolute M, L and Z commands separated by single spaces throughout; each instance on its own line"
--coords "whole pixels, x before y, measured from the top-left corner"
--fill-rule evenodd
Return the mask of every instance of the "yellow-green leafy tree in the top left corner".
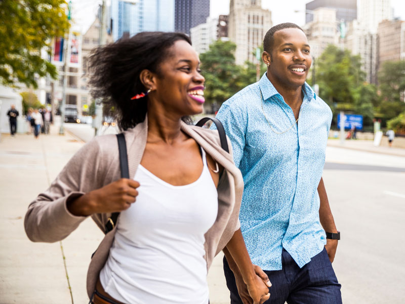
M 66 7 L 65 0 L 0 1 L 0 83 L 37 88 L 36 76 L 56 79 L 55 66 L 41 52 L 51 56 L 52 39 L 68 30 Z

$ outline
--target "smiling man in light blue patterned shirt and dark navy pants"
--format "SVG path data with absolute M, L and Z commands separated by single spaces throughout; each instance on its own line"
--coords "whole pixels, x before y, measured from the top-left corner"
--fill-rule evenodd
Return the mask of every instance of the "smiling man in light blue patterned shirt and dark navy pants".
M 299 26 L 272 27 L 263 46 L 267 72 L 217 115 L 244 176 L 242 235 L 253 263 L 270 278 L 266 303 L 341 303 L 331 264 L 340 234 L 321 178 L 332 111 L 305 83 L 312 60 Z M 251 303 L 225 256 L 231 303 Z

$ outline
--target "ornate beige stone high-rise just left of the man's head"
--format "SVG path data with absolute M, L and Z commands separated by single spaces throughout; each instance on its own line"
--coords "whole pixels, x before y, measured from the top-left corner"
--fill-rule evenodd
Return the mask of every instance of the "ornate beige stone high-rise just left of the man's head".
M 256 63 L 255 51 L 272 26 L 271 12 L 262 9 L 261 0 L 231 0 L 229 7 L 229 40 L 236 44 L 235 62 Z

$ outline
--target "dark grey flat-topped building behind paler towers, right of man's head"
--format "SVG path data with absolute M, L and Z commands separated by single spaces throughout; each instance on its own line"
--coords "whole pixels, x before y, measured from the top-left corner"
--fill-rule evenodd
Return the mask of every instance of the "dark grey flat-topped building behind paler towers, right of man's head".
M 308 11 L 314 11 L 318 8 L 329 8 L 336 10 L 336 20 L 352 21 L 357 18 L 357 0 L 314 0 L 305 5 Z M 305 14 L 305 22 L 313 20 L 313 13 Z

